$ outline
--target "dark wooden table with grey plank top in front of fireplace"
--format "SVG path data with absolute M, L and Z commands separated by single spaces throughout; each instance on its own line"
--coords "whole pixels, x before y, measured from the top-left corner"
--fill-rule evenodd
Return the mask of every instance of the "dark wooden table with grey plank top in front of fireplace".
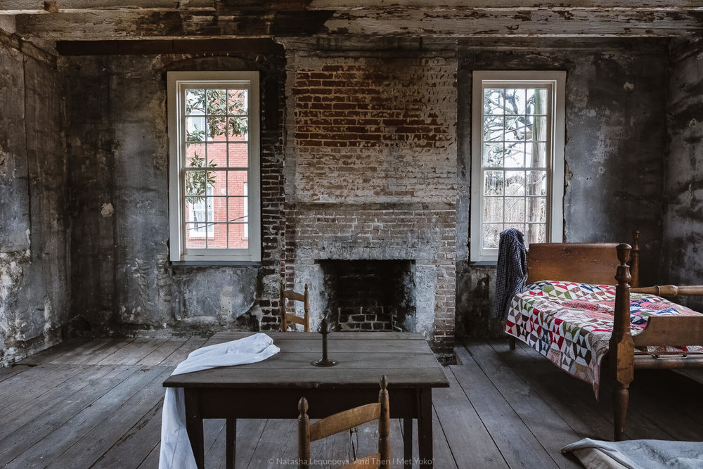
M 205 345 L 251 333 L 218 333 Z M 415 333 L 331 333 L 331 368 L 310 364 L 321 356 L 318 333 L 268 333 L 280 352 L 255 364 L 174 375 L 165 387 L 183 387 L 186 428 L 198 468 L 204 467 L 203 418 L 227 419 L 227 467 L 233 468 L 238 418 L 297 418 L 305 397 L 310 418 L 323 418 L 378 401 L 378 381 L 388 378 L 391 418 L 404 419 L 404 455 L 411 467 L 413 418 L 418 419 L 421 468 L 432 468 L 432 388 L 449 381 L 422 335 Z M 392 435 L 392 438 L 398 435 Z M 400 455 L 392 455 L 400 458 Z

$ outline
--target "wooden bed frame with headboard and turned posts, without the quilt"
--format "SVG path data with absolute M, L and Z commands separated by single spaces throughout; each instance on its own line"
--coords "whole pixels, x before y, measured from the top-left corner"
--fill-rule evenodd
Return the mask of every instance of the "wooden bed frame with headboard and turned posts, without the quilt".
M 703 316 L 651 316 L 642 332 L 631 334 L 631 292 L 659 296 L 703 295 L 703 285 L 639 288 L 639 236 L 639 231 L 635 231 L 633 246 L 543 243 L 532 244 L 527 253 L 528 284 L 549 280 L 616 285 L 614 327 L 607 354 L 614 377 L 612 399 L 616 441 L 624 438 L 628 387 L 635 369 L 703 366 L 703 354 L 636 354 L 635 347 L 703 345 Z M 515 338 L 510 337 L 510 348 L 514 347 Z

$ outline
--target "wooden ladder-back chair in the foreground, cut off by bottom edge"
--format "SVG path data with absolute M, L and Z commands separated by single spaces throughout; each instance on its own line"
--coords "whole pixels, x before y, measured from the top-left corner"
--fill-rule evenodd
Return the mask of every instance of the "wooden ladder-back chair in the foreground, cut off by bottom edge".
M 310 442 L 344 432 L 363 423 L 378 420 L 378 453 L 366 458 L 357 459 L 340 469 L 387 469 L 390 463 L 391 444 L 389 437 L 390 413 L 388 407 L 388 380 L 383 375 L 380 381 L 381 390 L 378 392 L 378 403 L 354 407 L 333 416 L 318 420 L 310 425 L 307 415 L 308 403 L 300 398 L 298 410 L 298 467 L 310 467 Z

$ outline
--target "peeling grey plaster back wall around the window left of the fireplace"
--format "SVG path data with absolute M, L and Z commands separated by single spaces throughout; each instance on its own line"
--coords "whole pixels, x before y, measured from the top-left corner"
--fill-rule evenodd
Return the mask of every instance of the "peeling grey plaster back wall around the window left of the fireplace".
M 257 69 L 264 82 L 283 66 L 254 54 L 67 58 L 76 333 L 251 330 L 259 328 L 262 314 L 277 311 L 280 243 L 271 227 L 275 207 L 266 200 L 277 184 L 267 172 L 282 159 L 275 129 L 262 129 L 262 183 L 267 187 L 262 212 L 269 217 L 264 242 L 270 243 L 262 266 L 169 262 L 166 70 Z M 282 87 L 283 79 L 279 82 Z

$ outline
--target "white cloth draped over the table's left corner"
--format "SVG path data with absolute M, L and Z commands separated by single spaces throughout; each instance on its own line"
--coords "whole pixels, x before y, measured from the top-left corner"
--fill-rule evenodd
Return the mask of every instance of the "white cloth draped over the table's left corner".
M 181 361 L 172 375 L 217 368 L 218 366 L 256 363 L 275 355 L 280 349 L 268 335 L 258 333 L 247 338 L 193 350 Z M 161 418 L 160 469 L 195 469 L 191 440 L 186 432 L 186 406 L 182 387 L 168 387 Z

